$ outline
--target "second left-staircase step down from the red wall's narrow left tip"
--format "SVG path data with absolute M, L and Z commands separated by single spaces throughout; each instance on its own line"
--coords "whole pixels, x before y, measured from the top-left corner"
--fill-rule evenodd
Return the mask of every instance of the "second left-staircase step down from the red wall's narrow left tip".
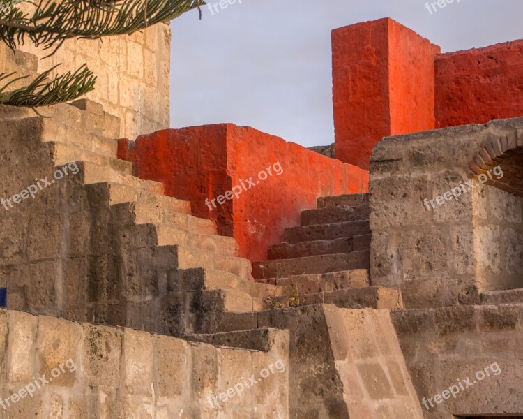
M 116 159 L 115 159 L 116 160 Z M 110 168 L 109 166 L 100 166 L 90 161 L 78 162 L 80 173 L 82 175 L 82 182 L 84 184 L 95 184 L 108 182 L 112 184 L 123 184 L 131 186 L 136 189 L 143 189 L 157 195 L 163 195 L 163 185 L 160 182 L 153 182 L 151 180 L 143 180 L 139 177 L 122 173 L 119 170 Z

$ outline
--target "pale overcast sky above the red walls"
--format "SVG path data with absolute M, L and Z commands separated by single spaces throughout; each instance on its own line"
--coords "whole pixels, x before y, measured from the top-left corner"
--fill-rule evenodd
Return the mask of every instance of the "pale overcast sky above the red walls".
M 209 4 L 217 4 L 208 0 Z M 432 0 L 434 1 L 434 0 Z M 331 30 L 391 17 L 442 52 L 523 38 L 522 0 L 241 0 L 172 22 L 171 126 L 232 122 L 305 147 L 334 142 Z

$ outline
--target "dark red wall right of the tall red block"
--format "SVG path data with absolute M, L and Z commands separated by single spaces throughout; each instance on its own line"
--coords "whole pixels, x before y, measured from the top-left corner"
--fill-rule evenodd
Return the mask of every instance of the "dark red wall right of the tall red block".
M 437 128 L 523 115 L 523 41 L 436 58 Z

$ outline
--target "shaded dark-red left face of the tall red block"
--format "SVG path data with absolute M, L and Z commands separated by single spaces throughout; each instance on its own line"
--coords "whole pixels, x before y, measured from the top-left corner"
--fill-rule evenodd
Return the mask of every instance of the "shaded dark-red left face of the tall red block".
M 390 134 L 388 20 L 332 31 L 336 159 L 368 170 L 372 147 Z

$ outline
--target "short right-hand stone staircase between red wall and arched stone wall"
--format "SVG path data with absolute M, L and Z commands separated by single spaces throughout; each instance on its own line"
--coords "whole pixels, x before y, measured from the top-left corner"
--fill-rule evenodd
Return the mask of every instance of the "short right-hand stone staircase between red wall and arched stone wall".
M 257 281 L 278 291 L 266 307 L 402 307 L 399 291 L 370 285 L 369 215 L 363 193 L 319 198 L 316 210 L 303 211 L 301 226 L 287 228 L 285 242 L 252 266 Z

